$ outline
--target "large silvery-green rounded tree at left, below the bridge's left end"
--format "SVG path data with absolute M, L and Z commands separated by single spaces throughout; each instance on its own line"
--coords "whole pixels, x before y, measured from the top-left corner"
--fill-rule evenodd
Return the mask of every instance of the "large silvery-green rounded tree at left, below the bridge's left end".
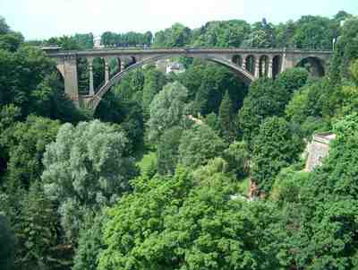
M 98 209 L 129 190 L 136 170 L 126 156 L 128 139 L 120 126 L 99 122 L 64 124 L 44 154 L 41 179 L 45 192 L 59 204 L 68 240 L 77 240 L 88 209 Z

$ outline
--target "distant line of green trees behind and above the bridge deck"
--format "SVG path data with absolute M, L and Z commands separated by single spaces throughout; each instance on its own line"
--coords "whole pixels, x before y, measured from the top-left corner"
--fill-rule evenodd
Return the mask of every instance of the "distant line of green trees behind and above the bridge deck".
M 333 18 L 303 16 L 273 24 L 266 19 L 249 23 L 243 20 L 213 21 L 197 29 L 181 23 L 159 30 L 139 33 L 106 31 L 101 36 L 105 47 L 200 47 L 200 48 L 307 48 L 332 49 L 340 35 L 340 24 L 351 14 L 341 11 Z M 51 38 L 40 44 L 60 44 L 64 49 L 93 48 L 93 34 L 75 34 L 71 37 Z

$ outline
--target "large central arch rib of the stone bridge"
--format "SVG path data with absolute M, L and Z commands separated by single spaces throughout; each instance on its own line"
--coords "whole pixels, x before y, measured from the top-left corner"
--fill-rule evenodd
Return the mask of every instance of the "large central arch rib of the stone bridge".
M 171 55 L 158 55 L 158 56 L 152 56 L 152 57 L 134 57 L 132 61 L 132 65 L 129 65 L 124 70 L 118 72 L 115 74 L 107 83 L 105 83 L 95 95 L 92 96 L 85 96 L 82 98 L 82 102 L 84 102 L 84 107 L 87 109 L 92 109 L 95 111 L 98 107 L 98 104 L 100 100 L 106 95 L 110 89 L 115 86 L 116 83 L 118 83 L 125 74 L 128 74 L 132 70 L 136 68 L 141 68 L 143 65 L 148 65 L 157 62 L 161 59 L 168 59 L 172 57 L 178 57 L 177 54 Z M 234 74 L 237 74 L 242 80 L 243 83 L 250 84 L 252 81 L 255 80 L 255 77 L 253 74 L 251 74 L 249 71 L 243 68 L 243 66 L 237 65 L 231 61 L 231 58 L 226 57 L 213 57 L 209 55 L 198 55 L 198 54 L 183 54 L 182 57 L 192 57 L 192 58 L 200 58 L 203 60 L 207 60 L 209 62 L 217 63 L 218 65 L 223 65 L 229 68 L 231 71 L 234 72 Z

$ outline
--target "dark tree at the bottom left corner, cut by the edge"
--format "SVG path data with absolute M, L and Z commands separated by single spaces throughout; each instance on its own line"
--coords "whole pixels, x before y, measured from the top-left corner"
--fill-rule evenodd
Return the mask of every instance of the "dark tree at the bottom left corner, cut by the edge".
M 15 239 L 10 224 L 3 213 L 0 213 L 0 243 L 0 268 L 12 270 Z

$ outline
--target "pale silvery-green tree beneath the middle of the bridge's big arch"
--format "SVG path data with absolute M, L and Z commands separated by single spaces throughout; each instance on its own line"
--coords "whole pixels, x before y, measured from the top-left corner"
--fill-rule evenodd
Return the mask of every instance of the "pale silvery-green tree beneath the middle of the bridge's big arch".
M 183 124 L 187 89 L 178 82 L 168 83 L 150 103 L 149 140 L 158 141 L 173 126 Z

